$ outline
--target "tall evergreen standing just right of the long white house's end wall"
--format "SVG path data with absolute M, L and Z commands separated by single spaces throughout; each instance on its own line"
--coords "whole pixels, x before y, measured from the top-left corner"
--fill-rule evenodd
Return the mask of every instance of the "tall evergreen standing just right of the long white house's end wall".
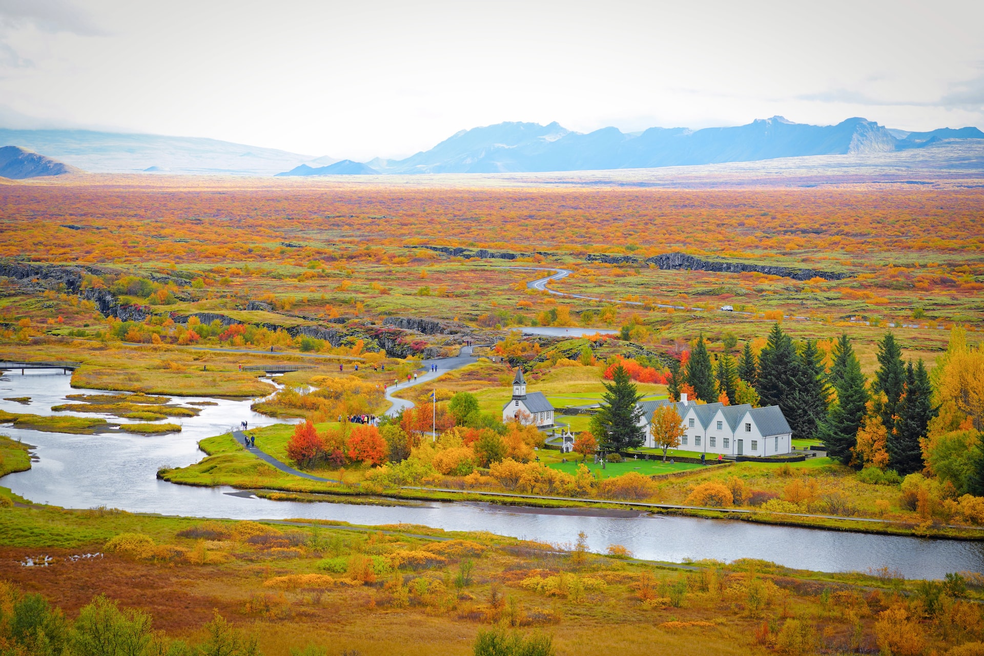
M 837 397 L 830 405 L 827 421 L 819 427 L 819 435 L 830 457 L 849 464 L 857 445 L 858 429 L 867 412 L 868 389 L 861 364 L 846 334 L 841 335 L 833 347 L 829 380 Z

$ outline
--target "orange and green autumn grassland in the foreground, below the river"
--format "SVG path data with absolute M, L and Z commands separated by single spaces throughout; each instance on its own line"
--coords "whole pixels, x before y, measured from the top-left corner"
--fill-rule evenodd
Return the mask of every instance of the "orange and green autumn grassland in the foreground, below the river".
M 888 570 L 675 565 L 635 560 L 617 547 L 600 556 L 418 525 L 202 521 L 46 506 L 0 509 L 0 535 L 0 580 L 44 595 L 70 619 L 105 594 L 151 613 L 169 638 L 198 642 L 218 612 L 256 635 L 267 656 L 306 645 L 464 656 L 479 630 L 497 625 L 546 632 L 559 656 L 871 652 L 897 649 L 900 640 L 945 653 L 984 638 L 973 603 L 984 581 L 972 572 L 961 590 Z M 105 555 L 68 558 L 95 552 Z M 49 567 L 19 565 L 38 553 L 53 559 Z M 941 592 L 946 600 L 927 606 Z

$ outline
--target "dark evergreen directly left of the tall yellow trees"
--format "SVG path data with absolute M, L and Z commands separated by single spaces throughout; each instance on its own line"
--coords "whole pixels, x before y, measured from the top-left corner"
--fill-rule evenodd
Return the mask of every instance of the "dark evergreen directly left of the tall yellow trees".
M 889 464 L 899 474 L 911 474 L 923 468 L 919 441 L 926 437 L 929 421 L 937 415 L 930 398 L 932 393 L 922 358 L 915 367 L 909 361 L 905 368 L 905 391 L 897 406 L 895 432 L 889 434 Z

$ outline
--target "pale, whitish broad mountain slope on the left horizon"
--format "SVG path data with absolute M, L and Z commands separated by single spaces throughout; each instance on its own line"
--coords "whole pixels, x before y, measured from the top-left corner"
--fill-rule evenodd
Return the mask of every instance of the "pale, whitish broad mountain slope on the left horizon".
M 338 161 L 215 139 L 90 130 L 0 129 L 0 146 L 31 149 L 93 173 L 274 175 L 301 163 Z

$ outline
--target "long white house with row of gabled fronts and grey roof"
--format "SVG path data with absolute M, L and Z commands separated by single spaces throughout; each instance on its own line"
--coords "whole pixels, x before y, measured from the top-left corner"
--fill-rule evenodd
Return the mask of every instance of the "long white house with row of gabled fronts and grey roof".
M 643 401 L 640 425 L 646 429 L 646 447 L 657 447 L 649 431 L 652 412 L 667 400 Z M 686 434 L 680 448 L 711 455 L 753 455 L 764 457 L 792 451 L 792 430 L 777 405 L 753 408 L 749 404 L 695 403 L 680 394 L 672 403 L 683 420 Z

